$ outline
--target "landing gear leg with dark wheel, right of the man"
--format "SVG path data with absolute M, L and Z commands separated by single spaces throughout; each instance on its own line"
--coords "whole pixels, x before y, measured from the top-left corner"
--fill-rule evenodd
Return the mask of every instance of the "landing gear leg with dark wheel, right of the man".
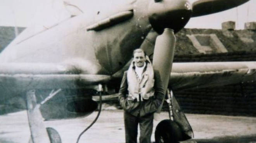
M 192 128 L 172 91 L 168 91 L 166 102 L 168 103 L 170 119 L 165 119 L 157 124 L 155 131 L 156 143 L 178 143 L 194 137 Z

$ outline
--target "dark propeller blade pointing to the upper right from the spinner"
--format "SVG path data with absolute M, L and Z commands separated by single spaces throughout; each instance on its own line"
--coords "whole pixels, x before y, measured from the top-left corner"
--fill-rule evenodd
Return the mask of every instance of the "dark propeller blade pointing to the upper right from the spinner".
M 198 0 L 192 4 L 192 17 L 208 15 L 237 7 L 249 0 Z

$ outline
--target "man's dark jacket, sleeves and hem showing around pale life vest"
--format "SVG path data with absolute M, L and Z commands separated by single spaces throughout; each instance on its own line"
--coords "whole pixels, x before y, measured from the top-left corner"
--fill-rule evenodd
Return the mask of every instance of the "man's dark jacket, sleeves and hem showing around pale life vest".
M 164 98 L 164 88 L 161 81 L 159 71 L 153 69 L 154 71 L 154 96 L 149 99 L 143 99 L 143 101 L 128 100 L 128 80 L 127 71 L 123 75 L 121 81 L 121 86 L 119 89 L 119 102 L 123 109 L 132 114 L 133 116 L 145 116 L 150 113 L 157 111 L 157 108 L 161 105 Z

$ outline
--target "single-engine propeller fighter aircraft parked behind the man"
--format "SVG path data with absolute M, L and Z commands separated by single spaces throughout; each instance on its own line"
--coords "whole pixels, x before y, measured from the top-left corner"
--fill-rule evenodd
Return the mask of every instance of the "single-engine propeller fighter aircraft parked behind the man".
M 81 5 L 61 1 L 72 13 L 69 17 L 52 25 L 37 23 L 26 28 L 0 53 L 0 104 L 22 99 L 13 105 L 28 111 L 30 141 L 57 143 L 61 141 L 52 135 L 56 131 L 45 128 L 43 120 L 84 117 L 95 111 L 98 104 L 92 100 L 93 94 L 118 92 L 123 72 L 137 48 L 144 49 L 160 71 L 169 99 L 172 92 L 168 88 L 255 81 L 256 62 L 173 63 L 174 34 L 190 18 L 247 1 L 88 0 Z M 163 37 L 165 32 L 169 32 L 167 38 Z M 171 99 L 173 108 L 179 109 L 175 98 Z M 171 111 L 176 122 L 179 119 L 175 116 L 185 118 L 182 112 L 177 115 L 178 110 Z M 192 129 L 189 123 L 186 125 L 181 128 L 187 128 L 192 138 Z M 170 141 L 166 138 L 169 131 L 156 131 L 156 142 Z

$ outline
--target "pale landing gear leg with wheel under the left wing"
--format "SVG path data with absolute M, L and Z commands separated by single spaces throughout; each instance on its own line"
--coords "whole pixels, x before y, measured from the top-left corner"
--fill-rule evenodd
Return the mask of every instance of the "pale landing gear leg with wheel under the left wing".
M 54 95 L 52 94 L 52 96 Z M 29 143 L 61 143 L 61 137 L 54 128 L 45 128 L 44 119 L 40 112 L 40 104 L 36 102 L 35 90 L 29 90 L 26 98 L 31 132 Z

